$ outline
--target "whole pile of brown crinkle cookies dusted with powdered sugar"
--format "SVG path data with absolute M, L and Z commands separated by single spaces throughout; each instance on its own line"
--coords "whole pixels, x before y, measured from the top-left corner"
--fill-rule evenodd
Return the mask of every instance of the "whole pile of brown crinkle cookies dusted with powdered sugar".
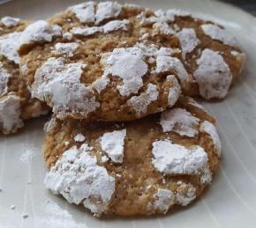
M 245 63 L 222 26 L 114 2 L 1 22 L 0 130 L 52 110 L 46 188 L 97 217 L 166 213 L 202 194 L 222 147 L 192 97 L 223 99 Z

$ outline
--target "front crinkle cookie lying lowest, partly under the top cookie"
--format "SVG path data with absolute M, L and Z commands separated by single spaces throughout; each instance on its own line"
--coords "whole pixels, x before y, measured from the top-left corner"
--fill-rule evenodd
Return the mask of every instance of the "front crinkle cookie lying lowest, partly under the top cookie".
M 99 217 L 166 213 L 198 198 L 221 156 L 215 118 L 184 97 L 137 121 L 58 120 L 45 126 L 44 183 Z

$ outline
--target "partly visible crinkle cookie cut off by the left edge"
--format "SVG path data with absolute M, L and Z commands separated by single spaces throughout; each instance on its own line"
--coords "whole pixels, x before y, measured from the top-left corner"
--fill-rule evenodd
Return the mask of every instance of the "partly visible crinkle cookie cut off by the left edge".
M 24 120 L 45 113 L 48 108 L 31 98 L 19 71 L 17 40 L 27 22 L 19 18 L 0 20 L 0 133 L 10 134 L 21 128 Z

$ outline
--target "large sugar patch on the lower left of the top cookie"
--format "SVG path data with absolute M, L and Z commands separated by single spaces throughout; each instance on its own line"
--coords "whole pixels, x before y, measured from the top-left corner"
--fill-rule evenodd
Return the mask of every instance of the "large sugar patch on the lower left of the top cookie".
M 64 63 L 64 58 L 49 58 L 36 70 L 32 94 L 46 100 L 60 118 L 67 113 L 87 115 L 100 104 L 94 91 L 80 83 L 85 67 L 82 63 Z

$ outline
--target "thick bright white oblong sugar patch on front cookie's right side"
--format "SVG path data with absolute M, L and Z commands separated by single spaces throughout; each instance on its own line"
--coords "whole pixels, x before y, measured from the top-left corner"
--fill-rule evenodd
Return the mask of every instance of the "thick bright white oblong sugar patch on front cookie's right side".
M 154 167 L 169 175 L 199 173 L 207 165 L 207 153 L 200 146 L 186 148 L 169 141 L 156 141 L 152 153 Z

